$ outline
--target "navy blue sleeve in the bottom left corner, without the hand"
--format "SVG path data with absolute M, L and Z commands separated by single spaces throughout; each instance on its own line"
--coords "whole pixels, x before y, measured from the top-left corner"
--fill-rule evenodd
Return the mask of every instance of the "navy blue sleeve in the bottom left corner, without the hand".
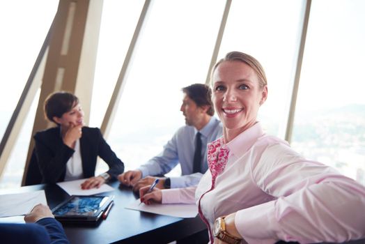
M 63 227 L 54 218 L 43 218 L 36 224 L 0 223 L 1 243 L 68 244 Z

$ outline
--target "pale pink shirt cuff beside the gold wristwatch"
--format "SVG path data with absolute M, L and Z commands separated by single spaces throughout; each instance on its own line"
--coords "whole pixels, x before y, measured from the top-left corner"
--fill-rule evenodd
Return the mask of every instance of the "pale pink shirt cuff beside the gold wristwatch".
M 245 208 L 235 214 L 235 227 L 248 242 L 251 239 L 262 243 L 275 243 L 277 239 L 277 221 L 275 218 L 275 201 Z M 250 242 L 251 241 L 251 242 Z

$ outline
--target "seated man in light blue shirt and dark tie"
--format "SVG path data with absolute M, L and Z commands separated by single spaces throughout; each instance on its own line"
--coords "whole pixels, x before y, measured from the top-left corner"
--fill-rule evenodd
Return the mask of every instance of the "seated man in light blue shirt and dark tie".
M 180 111 L 186 125 L 180 128 L 164 146 L 160 155 L 151 158 L 136 170 L 118 176 L 123 185 L 133 186 L 138 191 L 150 185 L 158 175 L 171 171 L 180 162 L 183 176 L 160 178 L 157 187 L 184 188 L 197 185 L 208 169 L 206 147 L 209 142 L 222 136 L 222 124 L 216 119 L 211 100 L 211 91 L 205 84 L 192 84 L 183 88 L 183 105 Z

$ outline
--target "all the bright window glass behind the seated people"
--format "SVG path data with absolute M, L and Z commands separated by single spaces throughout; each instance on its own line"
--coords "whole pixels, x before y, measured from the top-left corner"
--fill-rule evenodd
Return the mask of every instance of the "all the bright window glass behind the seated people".
M 58 2 L 0 3 L 1 137 Z M 90 126 L 102 123 L 144 2 L 104 1 Z M 365 184 L 365 2 L 311 2 L 292 146 L 306 158 L 336 167 Z M 126 170 L 159 153 L 184 125 L 181 89 L 205 82 L 225 3 L 151 1 L 107 138 Z M 219 49 L 219 59 L 238 50 L 263 64 L 269 94 L 259 120 L 268 133 L 281 138 L 288 119 L 305 3 L 232 1 Z M 20 185 L 35 106 L 36 102 L 24 121 L 0 188 Z M 96 173 L 106 168 L 102 163 Z

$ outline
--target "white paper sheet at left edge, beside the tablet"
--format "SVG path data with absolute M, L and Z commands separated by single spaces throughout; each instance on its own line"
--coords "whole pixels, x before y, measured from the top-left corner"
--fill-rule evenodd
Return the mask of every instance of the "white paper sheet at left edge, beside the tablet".
M 37 204 L 47 205 L 44 190 L 0 195 L 0 217 L 24 215 Z

